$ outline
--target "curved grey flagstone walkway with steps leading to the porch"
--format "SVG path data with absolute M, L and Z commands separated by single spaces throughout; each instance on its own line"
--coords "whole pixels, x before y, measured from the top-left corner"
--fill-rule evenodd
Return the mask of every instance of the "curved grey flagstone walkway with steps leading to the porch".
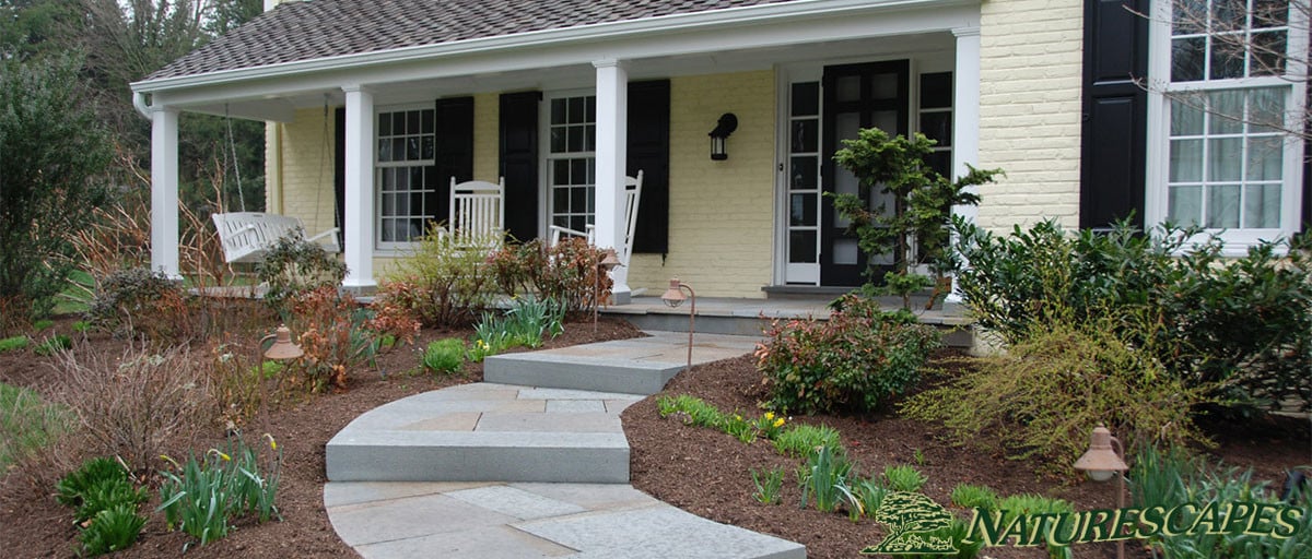
M 648 370 L 638 361 L 686 351 L 680 338 L 686 344 L 686 334 L 656 335 L 542 360 L 556 384 L 569 355 Z M 698 336 L 694 363 L 753 344 Z M 517 355 L 514 367 L 531 373 L 533 360 Z M 596 363 L 577 372 L 580 382 L 623 377 Z M 630 486 L 619 414 L 642 398 L 479 382 L 380 406 L 328 442 L 324 507 L 341 539 L 369 559 L 806 558 L 798 543 L 697 517 Z

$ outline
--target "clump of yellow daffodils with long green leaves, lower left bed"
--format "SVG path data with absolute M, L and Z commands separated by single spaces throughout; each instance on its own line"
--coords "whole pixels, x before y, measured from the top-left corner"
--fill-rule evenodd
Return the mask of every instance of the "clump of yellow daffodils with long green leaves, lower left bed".
M 182 530 L 202 546 L 227 535 L 234 518 L 252 514 L 260 522 L 278 516 L 274 500 L 281 479 L 282 452 L 265 435 L 272 456 L 264 458 L 240 439 L 228 441 L 227 452 L 210 449 L 203 461 L 192 456 L 186 465 L 173 463 L 160 484 L 159 511 L 169 529 Z

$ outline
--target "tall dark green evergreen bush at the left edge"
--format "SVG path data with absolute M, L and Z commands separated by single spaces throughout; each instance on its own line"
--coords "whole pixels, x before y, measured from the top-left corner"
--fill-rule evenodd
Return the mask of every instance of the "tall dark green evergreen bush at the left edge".
M 110 143 L 80 67 L 0 59 L 0 327 L 50 312 L 72 270 L 70 238 L 105 199 Z

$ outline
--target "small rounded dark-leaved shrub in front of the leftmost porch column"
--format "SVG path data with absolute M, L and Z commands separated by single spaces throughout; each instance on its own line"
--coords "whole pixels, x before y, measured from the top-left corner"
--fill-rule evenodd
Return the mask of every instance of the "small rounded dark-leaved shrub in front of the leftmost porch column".
M 147 268 L 118 270 L 101 279 L 87 319 L 118 335 L 155 340 L 190 334 L 194 322 L 182 288 Z

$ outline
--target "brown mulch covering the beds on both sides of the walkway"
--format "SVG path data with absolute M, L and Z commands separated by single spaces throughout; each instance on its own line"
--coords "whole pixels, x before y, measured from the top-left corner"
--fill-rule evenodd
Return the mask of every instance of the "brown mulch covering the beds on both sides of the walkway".
M 67 331 L 72 318 L 59 321 Z M 350 372 L 349 390 L 306 397 L 287 402 L 270 415 L 270 432 L 283 449 L 282 487 L 278 507 L 283 521 L 256 525 L 241 521 L 224 539 L 205 547 L 192 546 L 186 556 L 198 558 L 328 558 L 356 556 L 333 533 L 323 508 L 324 444 L 352 419 L 383 403 L 428 390 L 482 380 L 482 365 L 467 364 L 458 376 L 417 374 L 419 352 L 432 339 L 468 336 L 468 330 L 422 331 L 415 346 L 392 351 L 379 367 Z M 627 322 L 604 318 L 594 335 L 590 322 L 571 323 L 548 347 L 622 339 L 642 335 Z M 75 338 L 80 334 L 75 334 Z M 119 352 L 123 343 L 106 335 L 92 335 L 96 351 Z M 113 355 L 113 353 L 110 353 Z M 38 391 L 58 374 L 50 359 L 30 351 L 0 353 L 0 382 L 29 386 Z M 666 388 L 666 394 L 689 393 L 722 410 L 757 414 L 765 399 L 750 357 L 695 367 Z M 1036 492 L 1071 500 L 1077 509 L 1110 508 L 1114 496 L 1107 486 L 1063 484 L 1040 479 L 1025 463 L 954 448 L 939 440 L 938 432 L 924 423 L 893 415 L 863 418 L 796 418 L 795 422 L 824 423 L 838 429 L 849 454 L 861 473 L 882 471 L 884 465 L 912 463 L 929 477 L 925 492 L 947 503 L 947 494 L 960 482 L 987 484 L 1000 494 Z M 695 514 L 774 534 L 807 546 L 812 559 L 855 558 L 861 547 L 878 543 L 883 533 L 870 521 L 857 524 L 838 513 L 799 509 L 799 492 L 792 471 L 800 463 L 774 453 L 768 441 L 750 445 L 718 431 L 660 419 L 655 397 L 647 398 L 625 415 L 625 431 L 632 448 L 632 483 L 670 504 Z M 1309 463 L 1307 420 L 1275 420 L 1261 425 L 1208 425 L 1218 442 L 1216 454 L 1225 462 L 1254 466 L 1262 479 L 1283 479 L 1283 471 Z M 222 445 L 222 433 L 201 441 L 198 449 Z M 920 461 L 917 462 L 917 450 Z M 785 501 L 762 505 L 752 500 L 750 469 L 783 467 Z M 31 477 L 12 471 L 0 479 L 0 555 L 5 558 L 73 556 L 76 529 L 71 509 L 56 504 L 51 487 L 33 487 Z M 150 507 L 155 507 L 152 501 Z M 143 508 L 144 511 L 144 508 Z M 140 541 L 119 556 L 173 558 L 181 555 L 188 537 L 165 530 L 160 514 L 152 514 Z M 1147 558 L 1130 549 L 1132 558 Z M 1110 545 L 1081 546 L 1080 558 L 1113 558 Z M 1014 547 L 988 549 L 981 556 L 1040 558 L 1040 550 Z

